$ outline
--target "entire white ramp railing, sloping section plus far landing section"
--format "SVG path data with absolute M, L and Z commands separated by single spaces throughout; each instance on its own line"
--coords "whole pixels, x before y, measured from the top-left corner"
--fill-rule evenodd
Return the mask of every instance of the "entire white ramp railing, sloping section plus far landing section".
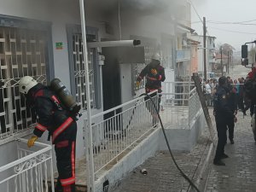
M 154 103 L 161 96 L 163 110 L 160 108 L 160 117 L 165 127 L 177 125 L 180 129 L 189 129 L 201 108 L 194 84 L 167 82 L 163 84 L 163 90 L 161 94 L 156 94 L 156 91 L 151 94 L 154 94 Z M 91 153 L 88 121 L 84 120 L 85 155 L 93 154 L 92 162 L 87 160 L 88 187 L 153 132 L 158 118 L 152 103 L 145 96 L 140 96 L 93 115 L 90 122 L 93 148 Z

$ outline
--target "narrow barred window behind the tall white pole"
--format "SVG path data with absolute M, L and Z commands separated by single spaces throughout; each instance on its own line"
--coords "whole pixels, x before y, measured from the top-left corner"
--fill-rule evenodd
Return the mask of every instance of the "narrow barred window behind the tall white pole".
M 93 69 L 93 50 L 88 49 L 88 69 L 89 69 L 89 84 L 90 84 L 90 108 L 96 108 L 95 102 L 95 84 L 94 84 L 94 69 Z M 87 108 L 86 100 L 86 84 L 84 71 L 84 55 L 83 55 L 83 38 L 82 34 L 73 34 L 73 64 L 74 64 L 74 79 L 75 79 L 75 94 L 77 102 L 83 109 Z

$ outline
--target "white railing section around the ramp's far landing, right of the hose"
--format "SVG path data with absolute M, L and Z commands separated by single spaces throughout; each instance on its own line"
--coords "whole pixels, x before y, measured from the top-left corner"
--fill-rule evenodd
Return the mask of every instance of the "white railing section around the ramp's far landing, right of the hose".
M 160 116 L 165 127 L 189 129 L 189 125 L 201 109 L 195 84 L 166 82 L 160 96 Z

